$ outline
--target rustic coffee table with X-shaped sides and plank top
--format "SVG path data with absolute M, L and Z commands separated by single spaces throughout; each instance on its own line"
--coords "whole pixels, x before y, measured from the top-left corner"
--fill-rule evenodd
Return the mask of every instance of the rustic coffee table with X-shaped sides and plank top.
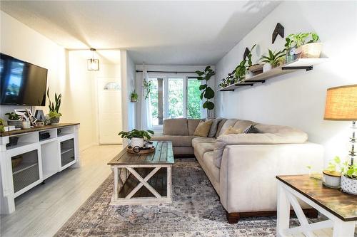
M 124 148 L 108 164 L 114 171 L 113 205 L 171 203 L 171 142 L 154 142 L 155 152 L 131 154 Z

